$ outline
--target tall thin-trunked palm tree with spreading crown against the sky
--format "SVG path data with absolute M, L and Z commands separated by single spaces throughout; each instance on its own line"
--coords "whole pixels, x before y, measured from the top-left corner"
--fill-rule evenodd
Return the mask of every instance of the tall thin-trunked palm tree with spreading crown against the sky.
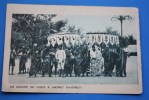
M 114 16 L 111 18 L 112 21 L 120 21 L 121 24 L 121 36 L 123 36 L 123 21 L 124 20 L 129 20 L 132 21 L 133 17 L 130 15 L 118 15 L 118 16 Z

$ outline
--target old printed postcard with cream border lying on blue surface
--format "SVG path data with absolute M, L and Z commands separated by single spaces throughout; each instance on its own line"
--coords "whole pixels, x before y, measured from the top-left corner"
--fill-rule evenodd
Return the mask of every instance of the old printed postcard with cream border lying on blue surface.
M 136 8 L 7 7 L 2 91 L 142 93 Z

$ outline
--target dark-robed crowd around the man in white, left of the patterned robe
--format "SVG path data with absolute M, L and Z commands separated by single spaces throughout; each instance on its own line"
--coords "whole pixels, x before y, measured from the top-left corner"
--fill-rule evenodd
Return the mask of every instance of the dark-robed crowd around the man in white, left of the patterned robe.
M 59 77 L 80 76 L 89 68 L 89 53 L 87 44 L 66 46 L 65 43 L 45 46 L 41 51 L 35 51 L 31 58 L 29 76 L 47 73 Z M 54 70 L 54 71 L 53 71 Z

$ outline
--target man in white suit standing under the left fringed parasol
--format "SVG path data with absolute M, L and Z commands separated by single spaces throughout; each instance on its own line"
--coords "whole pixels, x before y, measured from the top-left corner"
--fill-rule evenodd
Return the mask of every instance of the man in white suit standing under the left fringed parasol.
M 58 62 L 58 70 L 59 70 L 59 77 L 64 77 L 64 65 L 65 65 L 65 59 L 66 59 L 66 53 L 64 50 L 62 50 L 62 45 L 59 45 L 59 50 L 56 51 L 56 60 Z

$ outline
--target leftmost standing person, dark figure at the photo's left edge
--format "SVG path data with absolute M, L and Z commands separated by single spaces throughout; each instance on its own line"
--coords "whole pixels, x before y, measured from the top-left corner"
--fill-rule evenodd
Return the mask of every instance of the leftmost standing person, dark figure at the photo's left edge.
M 16 56 L 16 53 L 12 49 L 10 52 L 9 75 L 10 75 L 10 66 L 11 66 L 11 75 L 13 75 L 13 70 L 14 70 L 14 66 L 15 66 L 15 56 Z

